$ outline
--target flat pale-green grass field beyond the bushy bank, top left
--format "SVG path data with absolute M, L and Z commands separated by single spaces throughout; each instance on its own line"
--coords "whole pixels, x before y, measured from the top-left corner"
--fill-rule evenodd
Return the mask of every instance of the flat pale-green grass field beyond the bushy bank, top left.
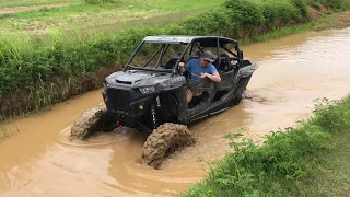
M 175 13 L 179 14 L 177 18 L 179 19 L 187 15 L 186 12 L 198 13 L 199 11 L 207 11 L 208 8 L 214 8 L 224 1 L 225 0 L 66 0 L 65 3 L 63 1 L 43 0 L 32 2 L 39 5 L 36 5 L 36 10 L 31 10 L 35 9 L 34 7 L 14 7 L 10 10 L 1 9 L 2 4 L 0 2 L 0 33 L 16 34 L 25 31 L 30 35 L 42 36 L 61 28 L 65 31 L 79 27 L 84 30 L 97 28 L 98 31 L 120 30 L 144 24 L 145 22 L 156 19 L 159 19 L 158 21 L 160 22 L 166 21 L 161 16 L 166 19 L 168 15 Z M 25 3 L 31 1 L 25 1 Z M 49 4 L 55 2 L 56 4 Z M 136 21 L 139 21 L 139 23 L 136 23 Z M 132 22 L 135 25 L 129 25 L 128 22 Z

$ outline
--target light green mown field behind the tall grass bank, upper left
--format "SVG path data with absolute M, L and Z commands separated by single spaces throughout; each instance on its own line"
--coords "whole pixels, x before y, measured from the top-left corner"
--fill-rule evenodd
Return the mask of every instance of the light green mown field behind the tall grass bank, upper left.
M 120 3 L 90 5 L 73 2 L 69 7 L 0 15 L 0 32 L 48 33 L 57 27 L 114 25 L 132 20 L 184 12 L 222 4 L 224 0 L 130 0 Z M 112 27 L 113 28 L 113 27 Z

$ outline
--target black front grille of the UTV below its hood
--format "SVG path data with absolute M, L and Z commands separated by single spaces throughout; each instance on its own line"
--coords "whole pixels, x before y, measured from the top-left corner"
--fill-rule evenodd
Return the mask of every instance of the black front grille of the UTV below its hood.
M 132 101 L 131 90 L 108 89 L 107 95 L 115 111 L 129 111 L 129 104 Z

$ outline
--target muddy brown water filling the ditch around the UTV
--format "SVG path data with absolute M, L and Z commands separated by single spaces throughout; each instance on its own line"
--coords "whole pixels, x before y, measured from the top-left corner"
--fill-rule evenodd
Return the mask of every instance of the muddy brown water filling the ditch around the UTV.
M 184 190 L 206 174 L 198 157 L 214 160 L 229 150 L 224 134 L 245 128 L 252 138 L 266 135 L 310 114 L 317 97 L 346 96 L 349 37 L 346 28 L 245 46 L 245 56 L 260 66 L 248 99 L 191 126 L 196 146 L 177 152 L 161 170 L 139 164 L 145 137 L 137 130 L 68 140 L 74 118 L 102 102 L 101 90 L 2 123 L 0 129 L 11 136 L 0 138 L 0 196 L 171 196 Z

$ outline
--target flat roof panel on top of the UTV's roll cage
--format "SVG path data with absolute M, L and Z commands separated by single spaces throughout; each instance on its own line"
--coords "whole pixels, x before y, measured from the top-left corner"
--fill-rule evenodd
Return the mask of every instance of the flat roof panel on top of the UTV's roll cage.
M 217 42 L 217 38 L 220 38 L 220 43 L 237 43 L 234 39 L 221 36 L 186 36 L 186 35 L 158 35 L 158 36 L 147 36 L 144 37 L 144 42 L 148 43 L 184 43 L 188 44 L 194 39 L 203 40 L 206 43 L 210 40 Z

